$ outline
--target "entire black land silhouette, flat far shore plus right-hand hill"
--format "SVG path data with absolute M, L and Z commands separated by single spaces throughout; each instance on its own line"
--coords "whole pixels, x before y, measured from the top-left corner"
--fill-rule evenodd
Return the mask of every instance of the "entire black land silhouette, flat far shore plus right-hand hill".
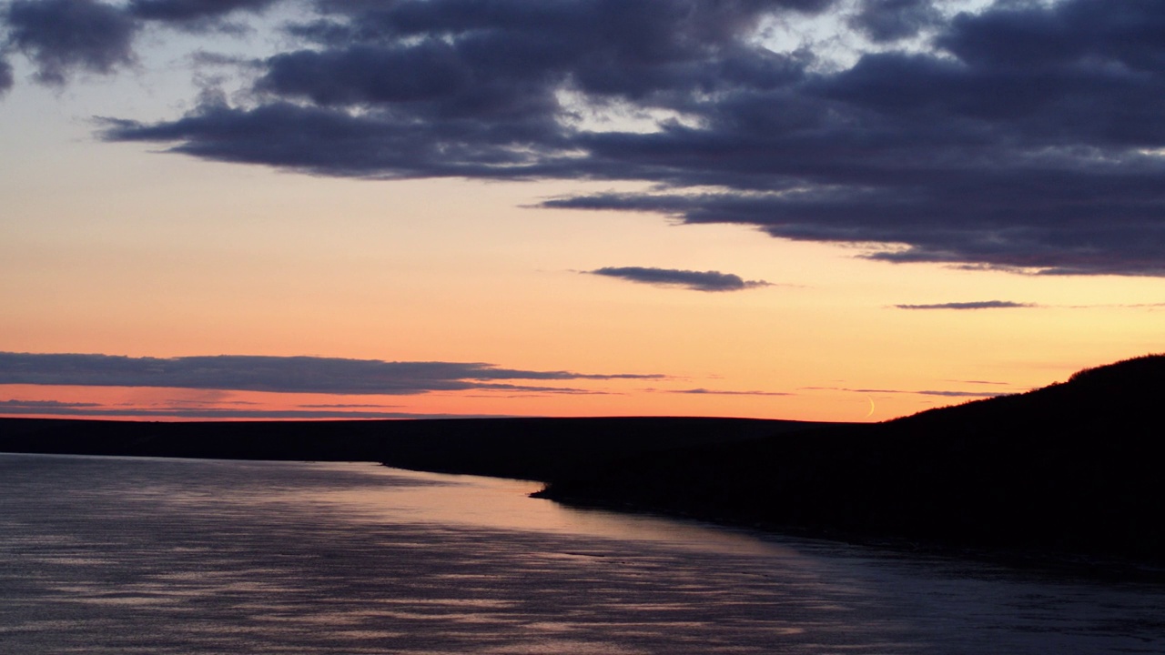
M 369 460 L 560 502 L 846 540 L 1165 565 L 1165 355 L 878 424 L 736 418 L 0 418 L 0 451 Z M 1090 559 L 1092 561 L 1092 559 Z

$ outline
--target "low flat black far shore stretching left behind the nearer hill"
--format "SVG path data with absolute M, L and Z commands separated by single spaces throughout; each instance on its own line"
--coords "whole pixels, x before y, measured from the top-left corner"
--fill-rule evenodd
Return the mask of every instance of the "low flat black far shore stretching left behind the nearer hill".
M 751 418 L 450 418 L 135 422 L 0 418 L 0 451 L 207 459 L 380 462 L 525 480 L 581 479 L 635 455 L 821 425 Z

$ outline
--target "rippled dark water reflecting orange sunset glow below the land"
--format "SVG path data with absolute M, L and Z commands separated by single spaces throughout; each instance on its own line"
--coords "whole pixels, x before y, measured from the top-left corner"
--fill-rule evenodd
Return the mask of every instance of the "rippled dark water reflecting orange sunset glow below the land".
M 0 455 L 0 653 L 1165 653 L 1165 589 L 370 464 Z

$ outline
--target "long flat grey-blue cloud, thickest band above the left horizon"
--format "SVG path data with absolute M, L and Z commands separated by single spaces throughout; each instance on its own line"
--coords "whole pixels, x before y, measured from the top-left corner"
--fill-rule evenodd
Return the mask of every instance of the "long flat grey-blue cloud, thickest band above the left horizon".
M 408 395 L 465 389 L 578 393 L 497 380 L 642 380 L 657 374 L 518 371 L 489 364 L 319 357 L 130 358 L 0 352 L 0 385 L 174 387 L 274 393 Z

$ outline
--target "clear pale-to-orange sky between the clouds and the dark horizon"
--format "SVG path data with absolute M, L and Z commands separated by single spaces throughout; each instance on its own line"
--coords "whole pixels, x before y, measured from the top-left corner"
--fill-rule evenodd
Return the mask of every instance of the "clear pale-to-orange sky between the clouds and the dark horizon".
M 174 80 L 177 47 L 142 48 L 132 75 L 20 83 L 0 100 L 0 352 L 655 378 L 545 383 L 572 393 L 409 395 L 0 383 L 0 415 L 876 421 L 1165 350 L 1159 277 L 888 263 L 862 259 L 884 245 L 532 206 L 645 182 L 324 177 L 101 142 L 94 115 L 151 119 L 190 106 L 189 80 Z M 12 64 L 17 80 L 34 72 Z M 633 266 L 769 286 L 706 293 L 586 273 Z M 987 301 L 1022 307 L 899 307 Z

